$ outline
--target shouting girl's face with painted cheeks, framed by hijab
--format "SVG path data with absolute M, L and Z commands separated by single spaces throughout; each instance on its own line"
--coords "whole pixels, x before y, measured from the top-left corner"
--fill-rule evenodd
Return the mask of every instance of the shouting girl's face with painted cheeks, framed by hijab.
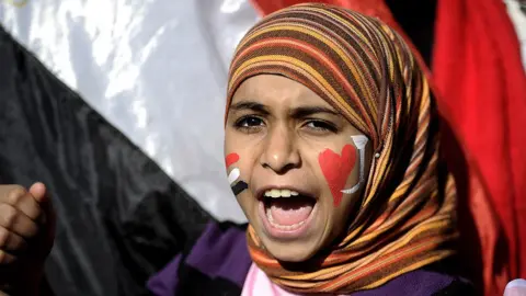
M 359 161 L 352 136 L 361 135 L 294 80 L 260 75 L 238 88 L 226 127 L 227 173 L 249 223 L 277 260 L 308 260 L 354 218 L 366 183 L 359 182 L 361 166 L 367 178 L 371 159 L 366 145 Z

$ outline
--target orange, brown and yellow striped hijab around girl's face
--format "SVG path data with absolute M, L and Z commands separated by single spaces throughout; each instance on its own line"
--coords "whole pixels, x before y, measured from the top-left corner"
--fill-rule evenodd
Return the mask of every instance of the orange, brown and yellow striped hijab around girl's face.
M 437 113 L 407 44 L 376 19 L 300 4 L 258 23 L 239 44 L 228 106 L 252 76 L 281 75 L 334 106 L 373 143 L 376 157 L 348 231 L 309 272 L 286 270 L 249 227 L 252 260 L 295 293 L 377 287 L 454 253 L 456 190 L 438 153 Z

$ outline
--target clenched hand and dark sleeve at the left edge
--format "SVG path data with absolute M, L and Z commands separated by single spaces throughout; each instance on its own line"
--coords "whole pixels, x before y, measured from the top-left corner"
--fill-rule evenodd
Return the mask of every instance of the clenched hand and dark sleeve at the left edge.
M 37 295 L 56 216 L 46 186 L 0 185 L 0 291 Z

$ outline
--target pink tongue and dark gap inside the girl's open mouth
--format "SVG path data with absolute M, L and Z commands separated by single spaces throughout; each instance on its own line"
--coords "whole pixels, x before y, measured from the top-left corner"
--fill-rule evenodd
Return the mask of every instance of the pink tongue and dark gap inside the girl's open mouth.
M 312 212 L 313 203 L 308 197 L 268 198 L 274 223 L 290 226 L 306 220 Z

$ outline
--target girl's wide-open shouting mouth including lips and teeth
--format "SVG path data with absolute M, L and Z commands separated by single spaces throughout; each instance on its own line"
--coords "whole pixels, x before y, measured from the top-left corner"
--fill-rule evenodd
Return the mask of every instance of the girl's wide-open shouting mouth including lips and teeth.
M 299 236 L 311 220 L 317 200 L 294 190 L 266 190 L 260 200 L 260 214 L 273 236 Z M 261 213 L 262 212 L 262 213 Z

